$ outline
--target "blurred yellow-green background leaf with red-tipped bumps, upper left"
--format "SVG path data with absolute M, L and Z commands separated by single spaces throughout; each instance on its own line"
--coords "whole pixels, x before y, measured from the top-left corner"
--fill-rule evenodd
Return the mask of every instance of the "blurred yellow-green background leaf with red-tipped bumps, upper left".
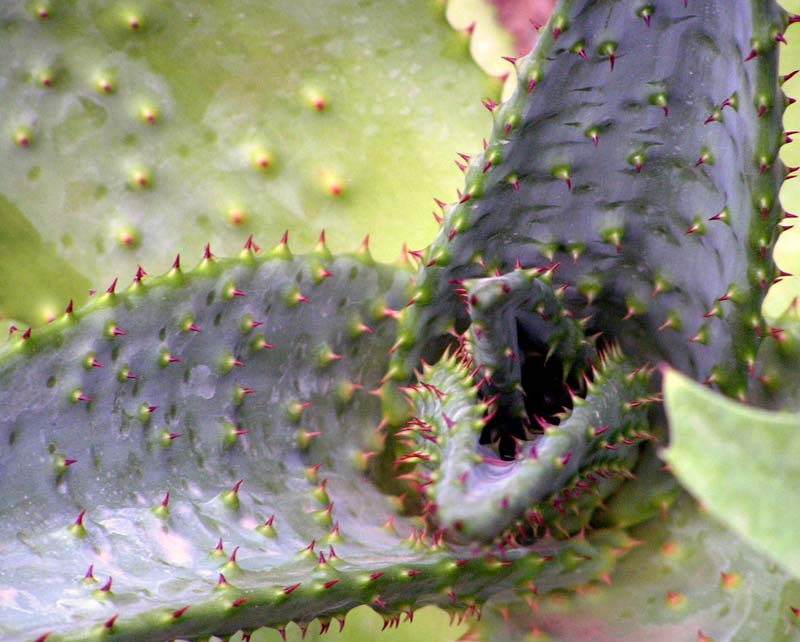
M 0 314 L 28 324 L 208 241 L 420 247 L 499 91 L 431 0 L 32 4 L 0 8 Z

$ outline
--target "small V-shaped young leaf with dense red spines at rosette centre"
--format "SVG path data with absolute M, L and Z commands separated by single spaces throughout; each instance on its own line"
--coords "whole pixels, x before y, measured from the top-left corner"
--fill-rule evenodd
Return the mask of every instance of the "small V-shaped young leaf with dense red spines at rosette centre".
M 406 457 L 419 459 L 428 471 L 424 488 L 438 523 L 480 541 L 519 520 L 527 520 L 531 536 L 586 527 L 592 511 L 627 476 L 642 440 L 650 438 L 647 407 L 636 403 L 647 394 L 649 373 L 631 372 L 621 355 L 606 355 L 586 398 L 558 424 L 545 424 L 531 443 L 517 442 L 515 456 L 504 461 L 480 444 L 486 404 L 477 402 L 478 386 L 465 360 L 439 362 L 410 394 L 417 449 Z

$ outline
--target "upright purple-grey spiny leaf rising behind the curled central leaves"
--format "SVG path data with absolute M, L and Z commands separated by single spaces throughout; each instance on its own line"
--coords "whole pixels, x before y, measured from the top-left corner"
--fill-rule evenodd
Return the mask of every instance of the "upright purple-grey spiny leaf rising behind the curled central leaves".
M 452 281 L 559 265 L 554 286 L 589 331 L 747 394 L 781 218 L 773 36 L 786 22 L 744 0 L 729 15 L 659 3 L 649 24 L 636 9 L 562 2 L 516 63 L 517 90 L 425 255 L 404 321 L 419 340 L 397 371 L 469 322 Z

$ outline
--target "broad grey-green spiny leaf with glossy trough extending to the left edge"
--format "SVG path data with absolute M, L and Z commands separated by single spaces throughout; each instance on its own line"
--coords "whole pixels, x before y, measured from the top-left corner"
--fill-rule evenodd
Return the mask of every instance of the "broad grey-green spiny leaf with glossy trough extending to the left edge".
M 114 284 L 14 339 L 0 358 L 4 639 L 327 626 L 360 604 L 391 621 L 607 572 L 621 534 L 450 549 L 357 472 L 380 444 L 369 391 L 408 287 L 364 254 L 249 244 Z

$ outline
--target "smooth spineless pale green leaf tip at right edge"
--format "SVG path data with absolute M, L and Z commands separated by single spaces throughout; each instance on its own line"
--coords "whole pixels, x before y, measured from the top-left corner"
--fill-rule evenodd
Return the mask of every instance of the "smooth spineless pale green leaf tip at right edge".
M 664 456 L 708 510 L 800 577 L 800 414 L 726 399 L 665 375 L 671 442 Z

